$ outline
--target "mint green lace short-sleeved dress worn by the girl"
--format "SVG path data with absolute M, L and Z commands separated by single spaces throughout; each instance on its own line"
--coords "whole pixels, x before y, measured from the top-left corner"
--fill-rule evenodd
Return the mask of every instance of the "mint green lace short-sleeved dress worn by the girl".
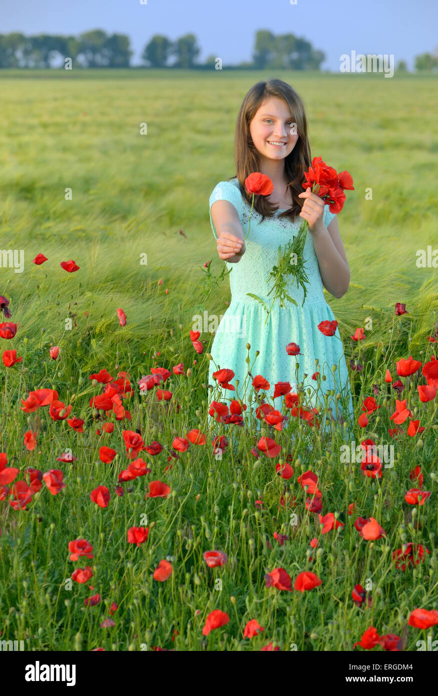
M 251 206 L 242 198 L 237 178 L 219 182 L 210 196 L 210 223 L 214 237 L 217 239 L 211 216 L 211 207 L 216 200 L 228 200 L 234 205 L 246 235 Z M 212 377 L 217 367 L 213 361 L 210 361 L 208 381 L 214 386 L 214 390 L 209 392 L 210 403 L 215 400 L 229 405 L 229 399 L 238 395 L 242 402 L 247 404 L 247 411 L 243 414 L 244 420 L 247 420 L 250 402 L 254 404 L 253 399 L 256 394 L 251 386 L 252 379 L 248 376 L 249 367 L 253 377 L 261 374 L 269 381 L 270 389 L 265 390 L 265 393 L 272 403 L 274 386 L 279 381 L 289 382 L 292 393 L 297 392 L 295 364 L 298 362 L 298 382 L 304 382 L 304 389 L 311 389 L 311 395 L 306 393 L 306 408 L 316 407 L 321 413 L 327 403 L 336 421 L 340 415 L 343 416 L 343 420 L 347 422 L 347 432 L 350 434 L 349 427 L 353 420 L 352 397 L 339 330 L 336 329 L 338 338 L 335 338 L 335 336 L 324 335 L 318 329 L 320 322 L 333 321 L 335 317 L 324 299 L 318 258 L 310 232 L 307 233 L 304 246 L 304 262 L 309 283 L 303 307 L 302 287 L 297 286 L 297 283 L 293 285 L 289 283 L 288 294 L 297 301 L 298 306 L 286 301 L 286 308 L 283 308 L 279 306 L 277 300 L 265 325 L 267 316 L 265 309 L 256 299 L 247 294 L 251 292 L 258 295 L 268 307 L 272 304 L 272 293 L 269 297 L 267 296 L 267 292 L 272 287 L 272 284 L 268 284 L 268 278 L 272 267 L 277 263 L 279 245 L 283 248 L 292 240 L 302 221 L 299 216 L 294 223 L 288 218 L 279 218 L 280 212 L 283 210 L 277 210 L 272 218 L 265 217 L 265 220 L 261 222 L 262 216 L 253 209 L 251 230 L 245 240 L 247 251 L 240 262 L 236 264 L 226 262 L 227 269 L 232 269 L 228 276 L 231 301 L 214 335 L 210 353 L 216 365 L 235 372 L 235 377 L 231 379 L 230 384 L 236 386 L 235 381 L 238 379 L 239 386 L 237 391 L 219 388 L 217 381 Z M 334 214 L 329 212 L 329 206 L 326 205 L 324 225 L 327 227 L 333 218 Z M 286 353 L 286 345 L 291 342 L 299 345 L 302 355 L 289 356 Z M 251 345 L 249 365 L 245 362 L 248 355 L 247 343 Z M 257 358 L 256 351 L 260 351 Z M 315 367 L 315 358 L 319 360 L 318 367 Z M 333 365 L 337 368 L 335 372 L 333 372 Z M 321 375 L 326 376 L 325 381 L 320 381 L 319 389 L 318 383 L 312 379 L 312 375 L 317 370 Z M 307 376 L 304 377 L 304 374 Z M 246 388 L 246 394 L 244 394 L 244 388 Z M 335 390 L 334 396 L 327 395 L 327 391 L 331 389 Z M 262 390 L 259 393 L 262 393 Z M 336 401 L 338 393 L 341 393 L 341 399 Z M 275 399 L 274 405 L 279 411 L 282 410 L 283 400 L 284 397 Z M 328 423 L 320 416 L 317 418 L 320 425 L 327 429 Z M 257 424 L 257 421 L 254 423 Z

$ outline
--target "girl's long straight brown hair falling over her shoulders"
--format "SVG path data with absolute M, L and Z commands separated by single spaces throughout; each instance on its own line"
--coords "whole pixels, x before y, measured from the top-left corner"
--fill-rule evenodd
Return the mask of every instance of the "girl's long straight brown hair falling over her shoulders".
M 292 152 L 284 159 L 284 173 L 292 195 L 293 205 L 285 212 L 279 214 L 279 217 L 288 217 L 294 221 L 299 212 L 301 212 L 304 203 L 302 198 L 298 198 L 298 194 L 304 191 L 302 187 L 304 171 L 308 171 L 309 166 L 311 166 L 311 149 L 307 138 L 307 119 L 304 104 L 297 92 L 283 80 L 274 78 L 267 82 L 257 82 L 244 97 L 235 128 L 234 159 L 236 174 L 234 177 L 230 177 L 230 179 L 237 177 L 240 184 L 240 193 L 242 193 L 244 200 L 247 200 L 249 205 L 251 205 L 252 193 L 248 193 L 245 187 L 245 180 L 252 172 L 259 171 L 259 152 L 251 138 L 249 125 L 261 104 L 269 97 L 278 97 L 285 101 L 292 114 L 292 121 L 297 124 L 298 140 Z M 265 216 L 270 217 L 274 214 L 277 206 L 269 203 L 266 196 L 254 196 L 254 208 L 262 215 L 263 222 Z

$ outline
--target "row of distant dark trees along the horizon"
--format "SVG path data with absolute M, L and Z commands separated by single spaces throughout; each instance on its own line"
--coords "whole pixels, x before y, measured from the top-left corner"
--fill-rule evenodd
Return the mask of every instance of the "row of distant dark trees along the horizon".
M 134 52 L 126 34 L 107 34 L 102 29 L 85 31 L 79 36 L 38 34 L 25 36 L 19 32 L 0 34 L 0 68 L 63 68 L 70 58 L 79 68 L 130 68 Z M 175 41 L 155 34 L 141 53 L 141 64 L 146 68 L 212 68 L 220 61 L 214 54 L 201 63 L 201 49 L 193 33 Z M 292 33 L 274 35 L 260 29 L 256 32 L 251 61 L 243 61 L 227 68 L 257 68 L 278 70 L 320 70 L 326 56 L 314 49 L 311 42 Z M 399 61 L 398 70 L 406 70 L 405 61 Z M 415 70 L 438 70 L 438 51 L 416 56 Z

